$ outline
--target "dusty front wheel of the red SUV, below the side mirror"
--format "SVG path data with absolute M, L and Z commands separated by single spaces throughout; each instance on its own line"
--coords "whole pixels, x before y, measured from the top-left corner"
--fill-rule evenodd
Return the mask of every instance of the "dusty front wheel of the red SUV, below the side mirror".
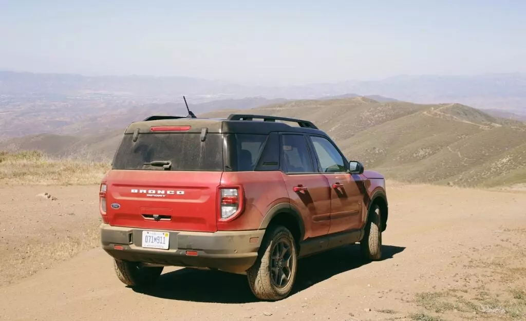
M 366 260 L 382 258 L 382 220 L 380 207 L 372 205 L 365 226 L 365 235 L 360 242 L 360 252 Z

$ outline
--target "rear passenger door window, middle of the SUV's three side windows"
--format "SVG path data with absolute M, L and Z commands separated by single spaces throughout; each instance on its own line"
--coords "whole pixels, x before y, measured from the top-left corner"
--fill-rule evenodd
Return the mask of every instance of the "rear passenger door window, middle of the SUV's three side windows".
M 305 136 L 285 134 L 281 143 L 286 173 L 314 172 Z

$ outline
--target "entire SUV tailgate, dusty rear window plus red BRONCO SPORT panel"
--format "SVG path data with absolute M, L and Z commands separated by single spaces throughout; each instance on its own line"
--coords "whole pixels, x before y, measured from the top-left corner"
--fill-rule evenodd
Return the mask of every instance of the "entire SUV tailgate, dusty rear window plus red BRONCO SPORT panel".
M 108 223 L 215 232 L 224 169 L 219 124 L 181 119 L 169 126 L 130 125 L 105 178 Z

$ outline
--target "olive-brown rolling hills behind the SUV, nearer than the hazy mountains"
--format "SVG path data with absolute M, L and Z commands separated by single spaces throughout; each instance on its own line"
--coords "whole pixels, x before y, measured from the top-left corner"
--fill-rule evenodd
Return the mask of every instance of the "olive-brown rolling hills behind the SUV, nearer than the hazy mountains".
M 224 109 L 198 116 L 225 117 L 234 112 Z M 526 182 L 526 124 L 461 104 L 355 97 L 291 101 L 242 112 L 307 118 L 335 139 L 349 159 L 360 160 L 391 179 L 454 186 Z M 83 138 L 14 138 L 0 143 L 0 148 L 111 157 L 122 129 Z

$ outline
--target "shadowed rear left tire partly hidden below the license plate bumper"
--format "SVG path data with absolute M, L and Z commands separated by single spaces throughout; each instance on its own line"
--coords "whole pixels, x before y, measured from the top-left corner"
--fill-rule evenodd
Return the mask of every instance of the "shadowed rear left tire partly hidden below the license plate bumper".
M 154 285 L 164 267 L 143 266 L 138 262 L 113 260 L 115 273 L 119 280 L 131 287 L 148 287 Z

